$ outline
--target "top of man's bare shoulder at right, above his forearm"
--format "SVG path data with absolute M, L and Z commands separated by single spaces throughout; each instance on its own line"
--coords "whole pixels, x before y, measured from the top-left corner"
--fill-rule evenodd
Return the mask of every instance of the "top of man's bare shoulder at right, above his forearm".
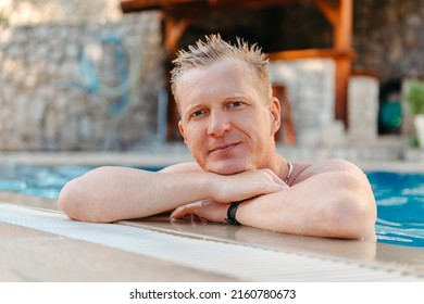
M 295 164 L 294 183 L 325 173 L 340 173 L 352 178 L 366 179 L 365 174 L 356 164 L 342 159 L 331 159 L 313 164 Z

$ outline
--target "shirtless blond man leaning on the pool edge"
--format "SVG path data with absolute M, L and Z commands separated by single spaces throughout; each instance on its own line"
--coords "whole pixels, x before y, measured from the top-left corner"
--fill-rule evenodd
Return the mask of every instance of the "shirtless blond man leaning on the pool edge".
M 210 36 L 174 63 L 178 127 L 196 163 L 158 173 L 93 169 L 60 193 L 71 218 L 104 223 L 173 211 L 171 219 L 196 215 L 285 233 L 375 240 L 375 200 L 357 166 L 344 160 L 291 164 L 276 152 L 279 102 L 257 46 Z

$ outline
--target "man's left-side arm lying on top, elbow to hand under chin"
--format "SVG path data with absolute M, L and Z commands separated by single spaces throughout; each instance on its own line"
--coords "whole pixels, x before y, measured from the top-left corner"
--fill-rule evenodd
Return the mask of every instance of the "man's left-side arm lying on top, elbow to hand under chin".
M 240 187 L 240 179 L 250 181 Z M 146 217 L 207 199 L 232 202 L 282 187 L 269 170 L 225 177 L 189 164 L 159 173 L 99 167 L 67 182 L 59 195 L 59 206 L 73 219 L 107 223 Z

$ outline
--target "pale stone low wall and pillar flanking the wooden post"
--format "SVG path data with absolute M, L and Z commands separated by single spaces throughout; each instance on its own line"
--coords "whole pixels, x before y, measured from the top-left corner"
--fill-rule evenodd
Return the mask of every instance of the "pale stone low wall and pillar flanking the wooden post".
M 352 76 L 348 86 L 348 131 L 334 119 L 335 63 L 331 59 L 271 62 L 270 77 L 284 85 L 291 104 L 297 144 L 332 148 L 367 145 L 377 140 L 378 86 L 370 76 Z

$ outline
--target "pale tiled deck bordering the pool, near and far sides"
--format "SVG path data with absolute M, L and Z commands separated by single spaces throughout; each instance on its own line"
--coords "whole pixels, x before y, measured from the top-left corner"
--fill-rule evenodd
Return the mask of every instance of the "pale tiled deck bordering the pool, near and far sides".
M 0 162 L 157 166 L 190 160 L 177 152 L 154 159 L 13 153 Z M 412 162 L 359 165 L 424 172 Z M 54 200 L 12 193 L 0 193 L 0 281 L 424 281 L 424 250 L 416 248 L 171 224 L 163 216 L 92 226 L 68 220 Z

